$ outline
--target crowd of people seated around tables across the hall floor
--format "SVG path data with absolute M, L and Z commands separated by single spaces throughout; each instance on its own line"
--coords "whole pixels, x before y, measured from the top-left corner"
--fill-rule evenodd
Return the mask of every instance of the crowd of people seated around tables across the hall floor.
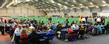
M 80 24 L 77 22 L 69 24 L 68 19 L 65 20 L 65 23 L 52 23 L 52 19 L 49 18 L 49 22 L 44 24 L 37 20 L 3 20 L 1 18 L 0 22 L 3 26 L 0 26 L 0 31 L 3 35 L 5 32 L 9 33 L 12 41 L 15 41 L 16 44 L 45 44 L 45 42 L 49 44 L 54 37 L 60 40 L 74 41 L 86 38 L 85 34 L 109 33 L 109 23 L 104 25 L 103 17 L 93 19 L 95 24 L 89 22 L 88 17 L 81 17 Z

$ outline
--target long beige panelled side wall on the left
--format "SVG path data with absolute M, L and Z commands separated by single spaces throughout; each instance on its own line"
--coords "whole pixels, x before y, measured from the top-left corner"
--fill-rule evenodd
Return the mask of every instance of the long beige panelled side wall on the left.
M 38 9 L 33 7 L 11 7 L 1 8 L 0 16 L 40 16 L 44 15 L 43 12 L 39 12 Z

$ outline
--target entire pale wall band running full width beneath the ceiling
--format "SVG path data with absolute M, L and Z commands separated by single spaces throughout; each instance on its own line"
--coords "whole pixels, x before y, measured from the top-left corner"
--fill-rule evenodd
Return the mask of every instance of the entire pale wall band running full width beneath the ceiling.
M 102 12 L 99 9 L 93 10 L 92 12 L 97 12 L 98 16 L 109 16 L 109 8 L 104 8 Z M 92 12 L 89 9 L 85 9 L 84 11 L 78 10 L 74 12 L 73 10 L 68 14 L 68 16 L 91 16 Z M 11 7 L 11 8 L 2 8 L 0 9 L 0 16 L 41 16 L 45 15 L 45 13 L 39 11 L 34 7 Z M 59 15 L 64 16 L 63 12 L 49 12 L 48 16 Z

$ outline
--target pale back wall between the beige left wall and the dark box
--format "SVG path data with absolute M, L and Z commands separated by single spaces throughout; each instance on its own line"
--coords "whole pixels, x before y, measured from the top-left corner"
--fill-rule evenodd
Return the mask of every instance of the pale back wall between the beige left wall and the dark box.
M 91 16 L 92 14 L 90 13 L 89 10 L 85 9 L 84 11 L 81 10 L 77 10 L 77 12 L 74 12 L 74 10 L 71 10 L 70 12 L 67 12 L 68 16 Z M 47 13 L 47 15 L 59 15 L 59 16 L 63 16 L 64 12 L 49 12 Z

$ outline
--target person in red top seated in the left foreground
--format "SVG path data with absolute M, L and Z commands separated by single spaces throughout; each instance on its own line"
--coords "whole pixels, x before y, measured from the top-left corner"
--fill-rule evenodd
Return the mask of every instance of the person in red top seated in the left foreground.
M 28 34 L 26 30 L 22 30 L 20 33 L 20 44 L 28 44 Z

